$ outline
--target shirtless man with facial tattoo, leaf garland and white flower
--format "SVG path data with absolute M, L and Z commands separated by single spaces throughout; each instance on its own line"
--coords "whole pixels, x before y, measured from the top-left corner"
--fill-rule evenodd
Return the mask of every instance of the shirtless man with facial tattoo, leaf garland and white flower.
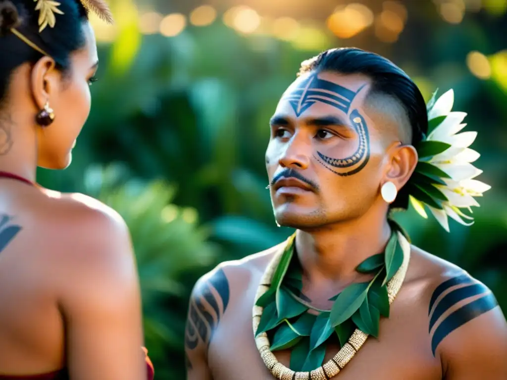
M 303 62 L 266 151 L 275 219 L 296 232 L 197 282 L 189 380 L 507 379 L 494 295 L 390 218 L 410 200 L 449 230 L 489 188 L 452 100 L 426 105 L 403 70 L 359 49 Z

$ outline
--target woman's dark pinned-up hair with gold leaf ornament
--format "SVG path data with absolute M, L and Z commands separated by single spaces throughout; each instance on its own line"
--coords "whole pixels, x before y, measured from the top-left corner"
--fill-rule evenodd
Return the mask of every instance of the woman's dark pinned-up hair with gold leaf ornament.
M 28 40 L 47 52 L 56 62 L 57 68 L 66 71 L 70 67 L 70 53 L 82 48 L 85 43 L 83 22 L 88 12 L 80 0 L 58 0 L 58 9 L 64 14 L 55 14 L 54 28 L 46 27 L 39 33 L 39 11 L 34 0 L 0 0 L 0 103 L 7 95 L 11 73 L 25 62 L 35 63 L 43 57 L 12 33 L 16 28 Z

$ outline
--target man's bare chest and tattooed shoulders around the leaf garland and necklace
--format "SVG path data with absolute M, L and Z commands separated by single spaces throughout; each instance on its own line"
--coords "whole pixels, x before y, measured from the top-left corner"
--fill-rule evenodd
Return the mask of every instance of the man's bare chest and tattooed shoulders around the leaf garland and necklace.
M 189 378 L 273 378 L 256 348 L 251 309 L 261 277 L 277 247 L 240 261 L 224 263 L 196 285 L 195 293 L 200 296 L 191 300 L 186 334 L 191 368 Z M 447 285 L 439 287 L 446 280 L 450 280 Z M 476 284 L 475 292 L 452 293 L 470 286 L 470 281 Z M 319 295 L 312 293 L 310 286 L 306 288 L 303 292 L 307 297 L 318 299 Z M 461 319 L 456 319 L 452 313 L 476 299 L 487 297 L 488 292 L 484 285 L 472 280 L 455 265 L 414 247 L 405 282 L 391 305 L 390 317 L 380 321 L 378 339 L 369 337 L 336 377 L 345 380 L 442 379 L 446 363 L 440 357 L 439 346 L 444 338 L 452 340 L 452 332 L 461 327 L 463 318 L 467 318 L 463 314 Z M 451 296 L 446 298 L 450 293 Z M 432 308 L 428 313 L 430 302 Z M 465 322 L 479 324 L 484 315 L 470 317 Z M 200 341 L 209 344 L 203 349 L 208 372 L 194 376 L 193 373 L 197 374 L 200 369 L 194 368 L 192 351 L 198 349 Z M 436 351 L 434 355 L 432 347 Z M 338 351 L 338 345 L 329 345 L 325 361 Z M 275 355 L 289 367 L 290 351 L 275 352 Z

